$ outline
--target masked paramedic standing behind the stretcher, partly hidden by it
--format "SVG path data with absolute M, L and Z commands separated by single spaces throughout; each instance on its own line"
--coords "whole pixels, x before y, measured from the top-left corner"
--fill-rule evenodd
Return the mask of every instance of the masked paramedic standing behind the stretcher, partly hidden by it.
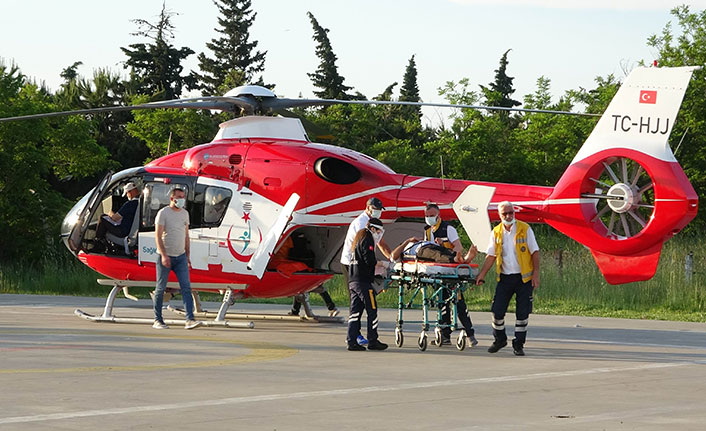
M 458 237 L 458 232 L 456 228 L 451 226 L 448 222 L 441 219 L 441 211 L 439 206 L 436 204 L 428 204 L 424 210 L 424 221 L 426 226 L 424 226 L 424 240 L 434 241 L 436 244 L 451 249 L 456 252 L 457 255 L 463 255 L 463 246 L 461 245 L 461 240 Z M 472 253 L 472 257 L 475 257 L 477 249 L 475 246 L 471 247 L 468 251 L 469 255 Z M 466 261 L 466 259 L 464 259 Z M 467 261 L 470 261 L 468 259 Z M 449 291 L 444 289 L 442 291 L 442 299 L 444 304 L 441 308 L 441 320 L 440 324 L 447 325 L 441 329 L 441 344 L 451 343 L 451 328 L 448 325 L 451 324 L 451 307 L 448 306 Z M 458 319 L 461 321 L 463 328 L 466 330 L 466 335 L 471 346 L 476 346 L 478 340 L 475 337 L 475 330 L 473 329 L 473 323 L 471 322 L 471 317 L 468 314 L 468 309 L 466 308 L 466 301 L 463 298 L 463 293 L 459 293 L 459 298 L 456 303 L 456 311 L 458 312 Z

